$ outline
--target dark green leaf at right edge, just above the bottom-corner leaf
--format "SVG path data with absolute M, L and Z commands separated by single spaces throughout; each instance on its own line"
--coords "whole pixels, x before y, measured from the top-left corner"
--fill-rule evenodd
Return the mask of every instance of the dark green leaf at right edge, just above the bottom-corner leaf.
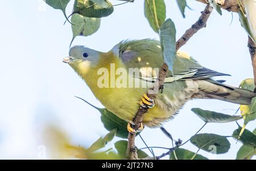
M 241 127 L 238 127 L 237 130 L 234 130 L 233 132 L 234 138 L 240 140 L 243 144 L 256 148 L 256 135 L 253 134 L 253 132 L 245 129 L 243 131 L 243 134 L 240 136 L 240 138 L 238 138 L 241 132 L 241 129 L 242 129 Z

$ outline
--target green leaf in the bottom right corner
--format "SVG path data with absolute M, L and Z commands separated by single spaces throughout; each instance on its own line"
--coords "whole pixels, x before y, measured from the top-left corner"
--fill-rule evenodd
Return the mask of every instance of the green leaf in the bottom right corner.
M 237 160 L 250 160 L 256 155 L 256 148 L 252 146 L 243 145 L 237 152 Z

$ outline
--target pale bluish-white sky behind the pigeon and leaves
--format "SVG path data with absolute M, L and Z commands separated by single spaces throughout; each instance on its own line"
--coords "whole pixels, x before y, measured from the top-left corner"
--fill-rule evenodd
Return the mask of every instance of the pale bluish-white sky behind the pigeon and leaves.
M 122 1 L 111 1 L 113 4 Z M 188 1 L 186 18 L 183 19 L 176 1 L 166 1 L 167 18 L 175 25 L 179 39 L 200 16 L 205 5 Z M 72 11 L 73 1 L 67 8 Z M 82 97 L 91 104 L 103 107 L 86 84 L 70 66 L 62 62 L 68 56 L 72 39 L 71 25 L 65 22 L 63 13 L 38 1 L 1 1 L 0 27 L 1 84 L 0 84 L 0 159 L 38 159 L 43 144 L 42 130 L 47 126 L 63 131 L 76 146 L 89 147 L 108 131 L 100 120 L 100 113 L 74 96 Z M 213 11 L 207 28 L 188 41 L 181 50 L 192 55 L 201 65 L 232 76 L 220 77 L 226 84 L 239 86 L 241 81 L 252 78 L 247 35 L 240 26 L 238 15 L 222 10 L 220 16 Z M 86 45 L 102 52 L 110 50 L 124 39 L 159 39 L 152 31 L 143 13 L 143 1 L 114 7 L 114 12 L 102 18 L 100 29 L 92 36 L 77 37 L 73 45 Z M 191 112 L 191 108 L 214 110 L 234 114 L 238 105 L 217 100 L 192 100 L 184 105 L 179 114 L 164 127 L 174 139 L 184 142 L 204 125 Z M 242 121 L 239 121 L 242 125 Z M 209 123 L 200 133 L 231 135 L 237 129 L 236 122 Z M 247 125 L 255 129 L 255 121 Z M 159 129 L 145 128 L 142 137 L 148 146 L 171 147 Z M 113 142 L 118 140 L 115 138 Z M 231 148 L 222 155 L 200 154 L 211 159 L 235 159 L 241 143 L 229 138 Z M 145 147 L 137 138 L 136 145 Z M 113 143 L 108 144 L 113 147 Z M 183 148 L 196 152 L 197 147 L 187 143 Z M 46 146 L 47 158 L 52 149 Z M 148 153 L 147 150 L 145 152 Z M 154 149 L 156 155 L 164 150 Z

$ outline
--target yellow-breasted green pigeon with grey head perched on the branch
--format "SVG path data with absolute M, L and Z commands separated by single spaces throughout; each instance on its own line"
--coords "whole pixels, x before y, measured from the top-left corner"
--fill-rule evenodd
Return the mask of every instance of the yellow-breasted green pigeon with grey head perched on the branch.
M 212 79 L 224 76 L 201 66 L 184 52 L 177 52 L 173 73 L 169 71 L 163 93 L 155 99 L 147 97 L 148 88 L 154 85 L 163 65 L 159 41 L 126 40 L 103 53 L 85 46 L 74 46 L 63 62 L 89 86 L 98 100 L 119 118 L 129 122 L 127 128 L 135 133 L 148 127 L 158 127 L 192 99 L 218 99 L 249 105 L 255 93 L 246 89 L 222 84 Z M 138 106 L 148 108 L 138 130 L 131 128 Z

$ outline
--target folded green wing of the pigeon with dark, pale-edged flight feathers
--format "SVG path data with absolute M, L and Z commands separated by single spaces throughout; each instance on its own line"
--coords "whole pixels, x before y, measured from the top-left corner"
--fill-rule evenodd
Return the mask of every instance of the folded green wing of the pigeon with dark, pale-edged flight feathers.
M 127 68 L 160 69 L 163 65 L 163 54 L 160 42 L 151 39 L 125 40 L 120 42 L 119 58 Z M 212 76 L 228 75 L 201 66 L 195 59 L 183 52 L 177 52 L 174 61 L 174 74 L 169 71 L 165 82 L 184 79 L 205 79 Z M 140 75 L 141 79 L 152 81 L 156 75 Z

